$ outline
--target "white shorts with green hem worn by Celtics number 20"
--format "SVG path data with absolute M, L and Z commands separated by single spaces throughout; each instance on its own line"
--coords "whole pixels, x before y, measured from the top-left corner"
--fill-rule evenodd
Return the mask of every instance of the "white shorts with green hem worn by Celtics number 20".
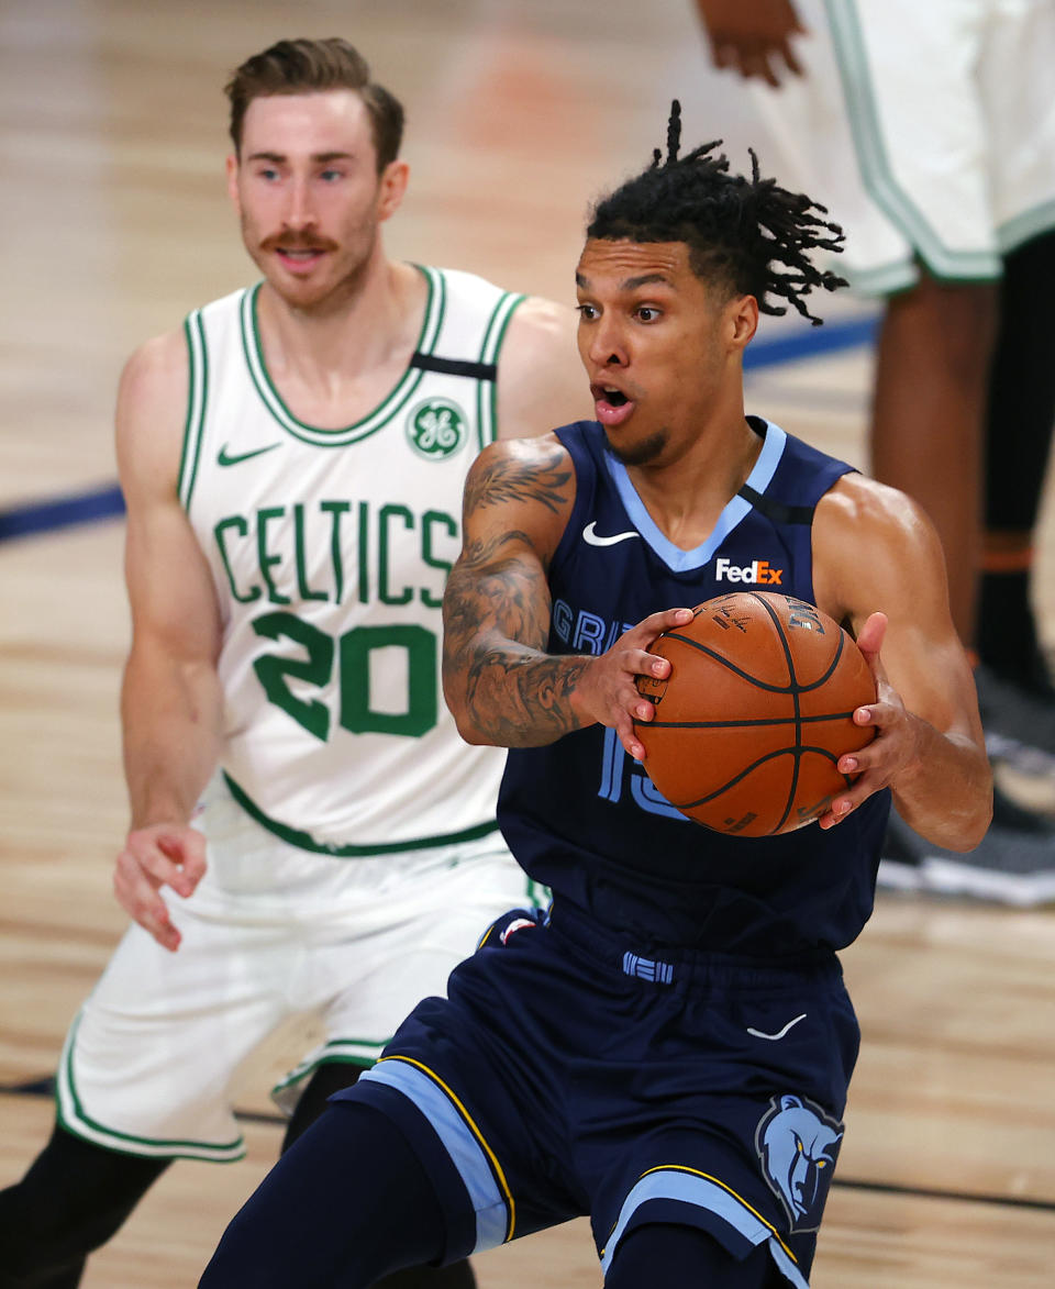
M 168 892 L 172 954 L 133 926 L 74 1021 L 57 1079 L 62 1125 L 134 1155 L 239 1159 L 230 1085 L 289 1016 L 326 1042 L 275 1089 L 291 1109 L 322 1062 L 371 1065 L 399 1022 L 502 913 L 538 905 L 502 835 L 377 860 L 297 849 L 210 788 L 196 826 L 208 871 Z

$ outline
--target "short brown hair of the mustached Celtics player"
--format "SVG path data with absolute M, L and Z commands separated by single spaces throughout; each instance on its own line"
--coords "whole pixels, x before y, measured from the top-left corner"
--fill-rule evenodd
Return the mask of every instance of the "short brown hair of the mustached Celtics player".
M 370 80 L 370 64 L 347 40 L 280 40 L 254 54 L 237 68 L 223 92 L 231 102 L 231 139 L 241 155 L 241 130 L 254 98 L 272 94 L 310 94 L 316 90 L 351 89 L 366 104 L 378 174 L 395 161 L 402 142 L 402 103 L 383 85 Z

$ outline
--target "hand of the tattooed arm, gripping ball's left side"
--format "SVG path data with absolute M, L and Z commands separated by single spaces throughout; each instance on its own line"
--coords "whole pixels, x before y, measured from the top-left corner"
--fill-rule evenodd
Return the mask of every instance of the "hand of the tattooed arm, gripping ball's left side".
M 575 705 L 600 724 L 619 735 L 619 741 L 635 761 L 645 759 L 645 746 L 633 731 L 635 721 L 651 721 L 655 708 L 642 699 L 638 675 L 669 675 L 671 664 L 649 650 L 663 632 L 685 626 L 693 620 L 691 608 L 664 608 L 650 614 L 623 632 L 610 650 L 589 661 L 575 684 Z

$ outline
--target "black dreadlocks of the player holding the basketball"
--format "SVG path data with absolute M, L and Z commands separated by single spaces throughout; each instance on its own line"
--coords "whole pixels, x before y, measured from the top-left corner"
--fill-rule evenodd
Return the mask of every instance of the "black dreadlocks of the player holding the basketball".
M 838 224 L 822 219 L 828 211 L 804 193 L 788 192 L 775 179 L 762 179 L 751 152 L 751 178 L 729 173 L 729 159 L 716 153 L 721 139 L 686 156 L 681 144 L 681 104 L 671 104 L 667 156 L 659 148 L 651 166 L 628 179 L 591 211 L 587 237 L 602 241 L 681 241 L 696 277 L 729 294 L 753 295 L 762 313 L 787 313 L 776 295 L 820 326 L 802 303 L 811 290 L 834 291 L 845 278 L 813 266 L 816 249 L 841 251 Z

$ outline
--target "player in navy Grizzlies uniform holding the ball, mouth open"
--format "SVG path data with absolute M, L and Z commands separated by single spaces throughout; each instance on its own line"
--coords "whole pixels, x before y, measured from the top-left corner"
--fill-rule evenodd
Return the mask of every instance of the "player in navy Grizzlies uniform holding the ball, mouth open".
M 872 911 L 891 794 L 970 847 L 992 784 L 927 519 L 744 415 L 760 311 L 810 316 L 840 285 L 810 260 L 838 228 L 678 135 L 676 110 L 666 159 L 588 228 L 597 420 L 478 458 L 445 597 L 448 701 L 468 741 L 512 749 L 499 819 L 552 909 L 499 919 L 331 1100 L 206 1289 L 366 1285 L 578 1214 L 609 1289 L 809 1284 L 859 1040 L 837 950 Z M 635 681 L 668 674 L 649 650 L 689 620 L 672 606 L 758 568 L 853 630 L 878 697 L 832 808 L 742 839 L 650 785 Z

